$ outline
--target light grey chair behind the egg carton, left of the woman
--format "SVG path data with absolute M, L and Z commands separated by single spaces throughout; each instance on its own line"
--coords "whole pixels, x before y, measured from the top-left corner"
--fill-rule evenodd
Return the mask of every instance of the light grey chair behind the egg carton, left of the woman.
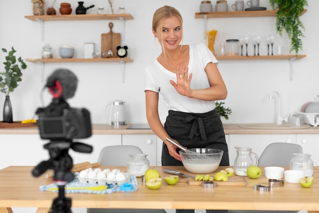
M 102 148 L 97 162 L 101 162 L 103 166 L 126 166 L 130 154 L 143 154 L 143 152 L 137 146 L 108 146 Z M 166 213 L 166 211 L 164 209 L 87 208 L 87 213 Z

